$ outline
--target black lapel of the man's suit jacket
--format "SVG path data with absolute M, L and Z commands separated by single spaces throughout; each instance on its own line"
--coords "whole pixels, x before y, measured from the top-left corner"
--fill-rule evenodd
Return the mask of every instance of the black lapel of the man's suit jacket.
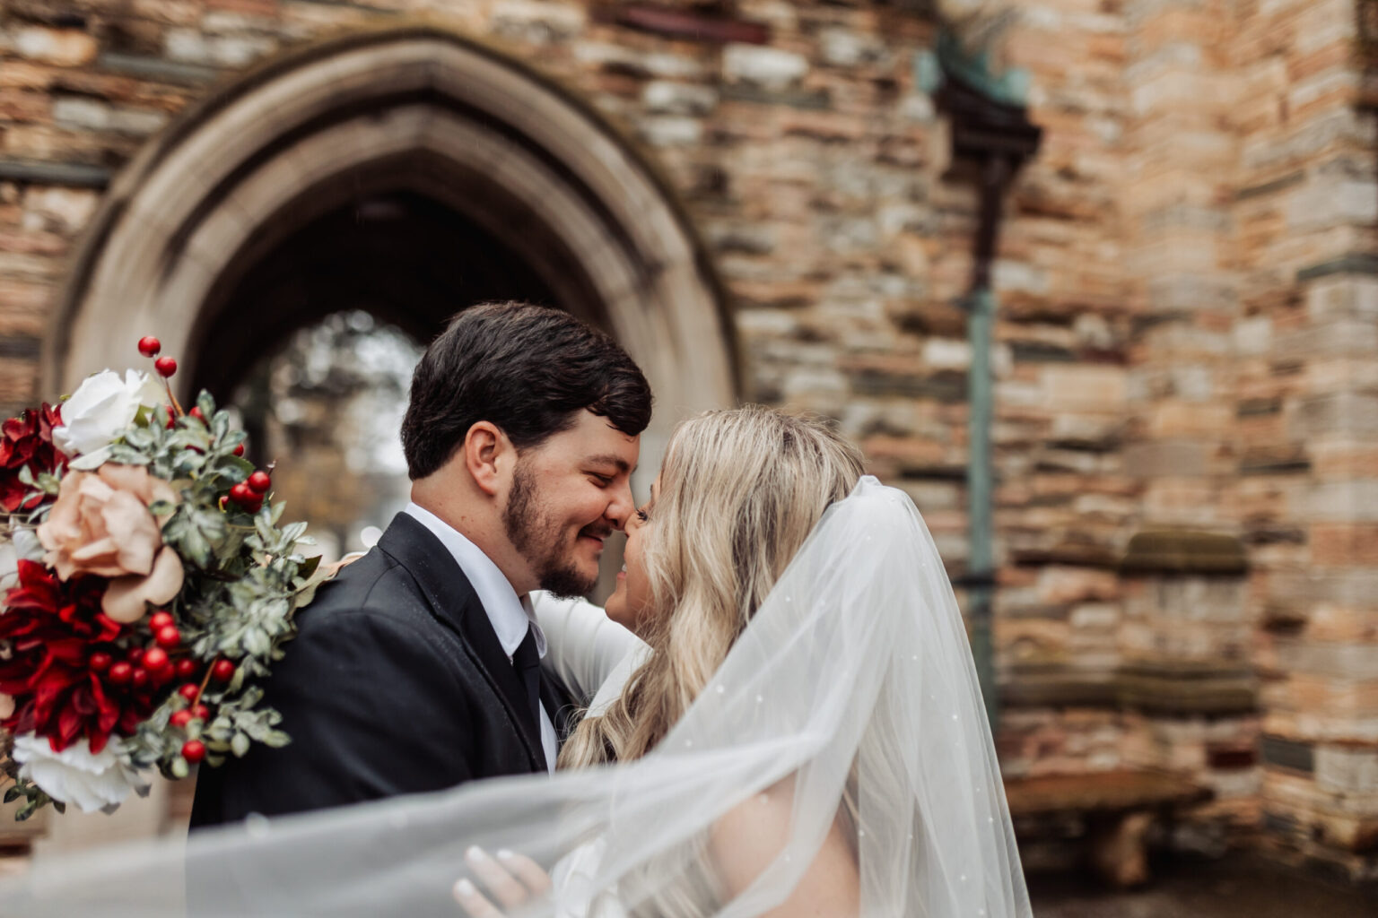
M 544 771 L 540 724 L 531 723 L 526 687 L 503 652 L 488 612 L 455 556 L 430 530 L 407 513 L 393 517 L 378 546 L 411 573 L 426 593 L 435 621 L 459 634 L 470 662 L 488 680 L 521 736 L 532 769 Z

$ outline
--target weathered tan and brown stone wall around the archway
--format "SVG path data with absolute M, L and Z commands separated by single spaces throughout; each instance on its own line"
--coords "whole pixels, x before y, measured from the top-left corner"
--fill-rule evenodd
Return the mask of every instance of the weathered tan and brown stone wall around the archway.
M 1371 868 L 1378 194 L 1355 0 L 1018 6 L 1007 55 L 1045 140 L 995 268 L 1005 767 L 1178 769 L 1217 790 L 1199 826 Z M 836 417 L 959 573 L 976 191 L 915 85 L 934 25 L 912 7 L 7 0 L 0 406 L 37 395 L 47 310 L 152 136 L 280 50 L 424 15 L 642 145 L 730 292 L 743 396 Z M 1122 570 L 1162 531 L 1242 542 L 1250 573 Z

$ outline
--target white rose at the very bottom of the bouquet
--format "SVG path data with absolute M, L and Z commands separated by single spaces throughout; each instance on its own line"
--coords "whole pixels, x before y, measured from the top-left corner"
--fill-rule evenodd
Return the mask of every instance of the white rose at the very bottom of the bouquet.
M 19 776 L 32 780 L 43 793 L 83 812 L 114 812 L 130 791 L 149 793 L 149 783 L 139 778 L 119 736 L 112 736 L 99 753 L 87 742 L 77 742 L 61 753 L 43 736 L 25 734 L 14 738 L 14 760 Z

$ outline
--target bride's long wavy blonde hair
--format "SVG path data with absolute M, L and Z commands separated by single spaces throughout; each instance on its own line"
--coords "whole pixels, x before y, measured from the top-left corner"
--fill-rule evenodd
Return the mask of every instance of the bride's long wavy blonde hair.
M 747 406 L 681 424 L 644 530 L 650 657 L 580 723 L 559 767 L 630 761 L 660 742 L 861 471 L 861 451 L 819 420 Z

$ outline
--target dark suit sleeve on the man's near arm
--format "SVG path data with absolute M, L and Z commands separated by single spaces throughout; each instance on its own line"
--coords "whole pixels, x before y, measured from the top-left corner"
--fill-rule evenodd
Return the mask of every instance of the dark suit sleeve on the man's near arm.
M 440 790 L 473 776 L 463 690 L 431 641 L 368 608 L 311 622 L 266 683 L 291 742 L 225 765 L 229 819 Z

